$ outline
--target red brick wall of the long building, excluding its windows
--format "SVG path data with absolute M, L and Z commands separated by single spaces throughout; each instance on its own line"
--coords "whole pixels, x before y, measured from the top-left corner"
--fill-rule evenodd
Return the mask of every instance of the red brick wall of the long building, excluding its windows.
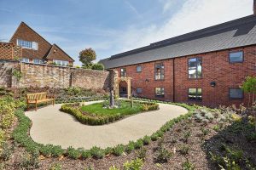
M 244 52 L 242 63 L 230 64 L 230 51 Z M 189 79 L 188 59 L 194 57 L 202 58 L 202 78 Z M 173 62 L 175 63 L 175 101 L 190 103 L 188 99 L 189 88 L 202 88 L 202 101 L 199 105 L 239 105 L 247 103 L 248 96 L 244 99 L 230 99 L 229 88 L 239 88 L 241 82 L 247 76 L 256 76 L 256 46 L 246 48 L 235 48 L 207 54 L 197 54 L 176 59 L 163 60 L 165 65 L 165 80 L 154 81 L 154 63 L 139 64 L 143 66 L 143 71 L 137 73 L 137 65 L 125 66 L 127 77 L 132 77 L 131 87 L 143 88 L 143 94 L 139 95 L 151 99 L 173 100 Z M 123 68 L 123 67 L 122 67 Z M 117 68 L 118 71 L 120 68 Z M 149 82 L 145 82 L 148 79 Z M 216 82 L 216 86 L 211 87 L 210 83 Z M 155 98 L 154 88 L 165 88 L 165 98 Z

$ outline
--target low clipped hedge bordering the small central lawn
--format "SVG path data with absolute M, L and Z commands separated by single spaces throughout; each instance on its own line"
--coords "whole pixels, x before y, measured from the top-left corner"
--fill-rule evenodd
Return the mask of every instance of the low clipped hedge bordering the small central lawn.
M 141 103 L 143 111 L 154 111 L 159 109 L 159 105 L 157 103 L 148 103 L 148 102 L 139 102 Z M 124 115 L 112 115 L 112 116 L 90 116 L 84 115 L 82 111 L 80 111 L 79 104 L 66 104 L 61 105 L 61 110 L 65 113 L 73 115 L 79 122 L 87 125 L 103 125 L 109 122 L 115 122 L 124 117 Z

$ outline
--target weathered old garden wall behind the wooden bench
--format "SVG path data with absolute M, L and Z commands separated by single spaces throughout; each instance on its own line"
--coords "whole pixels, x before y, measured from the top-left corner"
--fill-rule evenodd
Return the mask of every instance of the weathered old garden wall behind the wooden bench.
M 19 82 L 12 71 L 21 72 Z M 0 87 L 81 87 L 87 89 L 108 88 L 111 75 L 108 71 L 93 71 L 55 65 L 25 64 L 15 61 L 0 60 Z

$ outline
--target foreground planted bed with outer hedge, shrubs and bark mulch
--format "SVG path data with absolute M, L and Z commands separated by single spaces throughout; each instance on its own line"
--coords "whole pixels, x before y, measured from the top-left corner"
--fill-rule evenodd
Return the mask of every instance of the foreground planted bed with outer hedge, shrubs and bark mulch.
M 166 122 L 151 136 L 105 150 L 62 150 L 51 144 L 37 144 L 29 136 L 31 121 L 22 110 L 16 110 L 19 124 L 11 127 L 15 132 L 7 141 L 8 147 L 2 150 L 0 169 L 256 168 L 252 118 L 237 115 L 237 110 L 231 107 L 210 110 L 175 105 L 186 107 L 189 113 Z

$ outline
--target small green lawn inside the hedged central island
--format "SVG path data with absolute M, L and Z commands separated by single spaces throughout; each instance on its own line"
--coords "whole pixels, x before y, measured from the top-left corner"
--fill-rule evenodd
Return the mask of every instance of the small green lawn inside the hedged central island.
M 133 107 L 131 107 L 130 102 L 120 101 L 120 107 L 114 109 L 104 109 L 103 105 L 104 102 L 92 105 L 84 105 L 81 107 L 81 110 L 86 114 L 90 114 L 90 116 L 127 116 L 143 111 L 142 104 L 139 104 L 137 102 L 134 102 Z

